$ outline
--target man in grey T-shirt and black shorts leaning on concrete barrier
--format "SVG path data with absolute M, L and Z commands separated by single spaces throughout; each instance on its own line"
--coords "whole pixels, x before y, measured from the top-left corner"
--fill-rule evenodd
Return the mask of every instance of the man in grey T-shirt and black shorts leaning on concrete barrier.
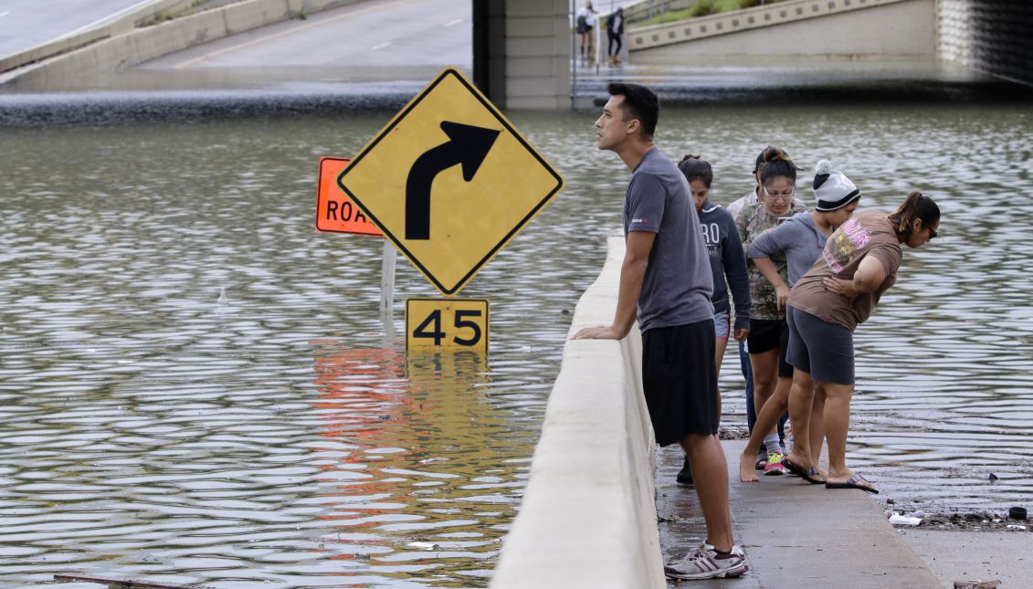
M 653 145 L 660 102 L 636 84 L 607 86 L 595 122 L 599 149 L 615 152 L 631 181 L 624 199 L 626 250 L 609 326 L 574 339 L 623 339 L 641 331 L 641 378 L 656 442 L 681 444 L 707 524 L 700 546 L 664 566 L 676 579 L 739 577 L 749 567 L 732 541 L 728 468 L 717 439 L 717 372 L 710 261 L 689 185 Z

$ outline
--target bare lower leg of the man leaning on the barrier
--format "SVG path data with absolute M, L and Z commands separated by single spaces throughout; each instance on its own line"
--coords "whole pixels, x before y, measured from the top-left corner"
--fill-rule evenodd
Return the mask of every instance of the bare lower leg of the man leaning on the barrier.
M 699 508 L 707 522 L 707 541 L 721 552 L 731 550 L 731 510 L 728 507 L 728 465 L 721 442 L 710 434 L 689 434 L 682 440 L 696 485 Z

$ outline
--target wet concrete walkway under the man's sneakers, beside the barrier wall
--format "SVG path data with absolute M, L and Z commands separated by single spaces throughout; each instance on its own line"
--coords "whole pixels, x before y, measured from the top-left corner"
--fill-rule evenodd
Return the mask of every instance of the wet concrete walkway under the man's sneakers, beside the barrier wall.
M 943 587 L 868 493 L 827 491 L 792 475 L 740 483 L 739 454 L 746 440 L 722 440 L 722 445 L 735 540 L 746 549 L 750 570 L 739 579 L 708 581 L 707 587 Z M 675 482 L 683 458 L 678 446 L 657 453 L 656 508 L 664 562 L 698 546 L 705 535 L 695 490 Z M 668 581 L 668 587 L 693 584 Z

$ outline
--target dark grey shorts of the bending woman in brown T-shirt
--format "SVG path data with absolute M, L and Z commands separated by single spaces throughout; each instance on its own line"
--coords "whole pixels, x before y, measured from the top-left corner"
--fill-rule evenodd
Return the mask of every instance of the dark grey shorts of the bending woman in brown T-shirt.
M 789 364 L 812 380 L 853 384 L 853 332 L 789 307 Z

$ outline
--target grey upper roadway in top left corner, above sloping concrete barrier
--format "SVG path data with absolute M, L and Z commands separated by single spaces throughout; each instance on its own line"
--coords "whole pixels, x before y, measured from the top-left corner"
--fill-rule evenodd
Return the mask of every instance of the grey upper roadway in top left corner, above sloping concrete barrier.
M 6 57 L 151 0 L 2 0 L 0 57 Z

